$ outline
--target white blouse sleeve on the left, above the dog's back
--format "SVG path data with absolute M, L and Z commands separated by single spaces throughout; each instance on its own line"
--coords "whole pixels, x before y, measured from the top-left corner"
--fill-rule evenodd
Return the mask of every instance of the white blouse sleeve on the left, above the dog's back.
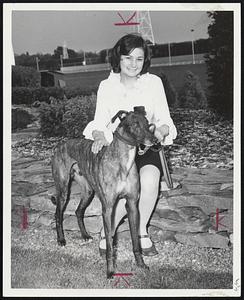
M 83 131 L 85 138 L 93 140 L 92 132 L 94 130 L 103 131 L 105 138 L 109 143 L 113 140 L 112 130 L 109 128 L 111 122 L 109 110 L 109 95 L 106 85 L 102 81 L 97 91 L 97 103 L 94 120 L 89 122 Z

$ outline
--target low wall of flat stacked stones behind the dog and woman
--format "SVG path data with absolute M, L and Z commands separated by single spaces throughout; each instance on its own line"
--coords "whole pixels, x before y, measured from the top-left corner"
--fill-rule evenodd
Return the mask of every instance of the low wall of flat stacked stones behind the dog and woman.
M 13 157 L 11 176 L 12 210 L 25 207 L 28 226 L 41 224 L 54 229 L 55 205 L 50 198 L 55 189 L 50 166 L 44 161 Z M 172 178 L 180 186 L 167 190 L 161 183 L 150 228 L 183 244 L 229 247 L 233 240 L 233 171 L 181 168 L 173 171 Z M 75 216 L 79 198 L 79 187 L 74 184 L 64 217 L 65 230 L 79 230 Z M 101 204 L 97 198 L 87 208 L 85 225 L 88 232 L 100 232 Z M 118 229 L 128 230 L 128 221 Z

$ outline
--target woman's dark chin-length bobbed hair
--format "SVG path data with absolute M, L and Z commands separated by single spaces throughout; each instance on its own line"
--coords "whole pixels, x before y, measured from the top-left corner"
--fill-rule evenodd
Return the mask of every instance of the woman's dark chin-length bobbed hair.
M 110 63 L 114 73 L 120 73 L 120 56 L 128 55 L 135 48 L 141 48 L 144 52 L 144 64 L 141 74 L 145 74 L 150 66 L 150 49 L 147 42 L 139 34 L 127 34 L 123 36 L 112 49 Z

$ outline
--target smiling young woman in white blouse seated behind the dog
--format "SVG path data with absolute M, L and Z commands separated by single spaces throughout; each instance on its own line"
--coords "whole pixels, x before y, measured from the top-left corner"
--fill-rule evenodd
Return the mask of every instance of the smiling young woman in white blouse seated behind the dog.
M 170 117 L 161 79 L 148 73 L 150 52 L 144 39 L 137 34 L 123 36 L 112 49 L 111 66 L 109 77 L 98 88 L 94 120 L 83 132 L 86 138 L 94 140 L 92 151 L 98 153 L 112 142 L 119 121 L 112 124 L 111 118 L 119 110 L 131 111 L 134 106 L 144 106 L 149 123 L 156 125 L 155 136 L 163 145 L 172 144 L 177 135 L 176 128 Z M 151 150 L 144 155 L 136 155 L 135 161 L 141 184 L 138 234 L 142 254 L 152 256 L 158 252 L 148 235 L 147 225 L 157 201 L 162 166 L 159 154 Z M 121 199 L 115 212 L 116 226 L 125 215 L 125 200 Z M 101 255 L 106 251 L 103 229 L 99 250 Z

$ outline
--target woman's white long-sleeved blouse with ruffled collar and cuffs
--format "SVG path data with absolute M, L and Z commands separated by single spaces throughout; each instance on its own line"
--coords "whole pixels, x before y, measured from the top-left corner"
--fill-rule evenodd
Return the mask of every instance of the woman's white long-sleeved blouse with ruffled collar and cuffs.
M 169 135 L 164 145 L 171 145 L 177 131 L 170 117 L 169 107 L 160 77 L 146 73 L 141 75 L 132 89 L 120 82 L 120 74 L 111 72 L 109 77 L 101 81 L 97 92 L 97 104 L 94 120 L 84 129 L 84 136 L 93 140 L 93 130 L 103 131 L 109 143 L 113 140 L 113 132 L 119 119 L 111 123 L 112 117 L 119 110 L 132 111 L 134 106 L 144 106 L 149 123 L 156 128 L 163 124 L 169 126 Z

